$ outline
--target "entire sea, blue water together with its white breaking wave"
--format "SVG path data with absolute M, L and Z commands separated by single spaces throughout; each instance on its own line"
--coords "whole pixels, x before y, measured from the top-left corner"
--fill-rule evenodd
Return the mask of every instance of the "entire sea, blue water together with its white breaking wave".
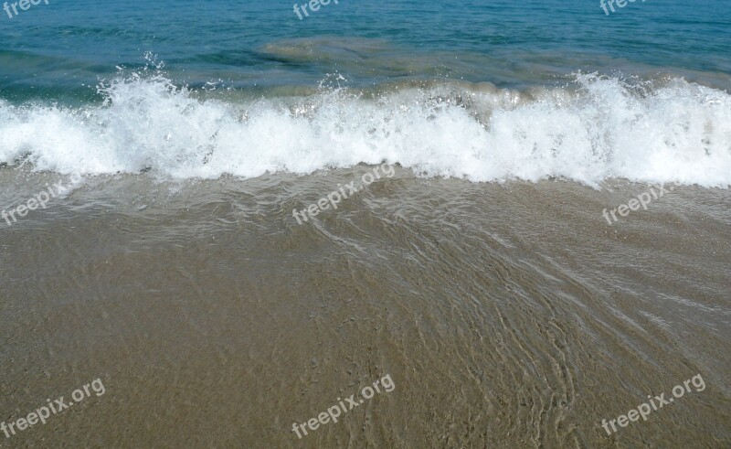
M 726 187 L 731 3 L 615 8 L 41 3 L 0 19 L 0 163 L 249 177 L 388 161 Z

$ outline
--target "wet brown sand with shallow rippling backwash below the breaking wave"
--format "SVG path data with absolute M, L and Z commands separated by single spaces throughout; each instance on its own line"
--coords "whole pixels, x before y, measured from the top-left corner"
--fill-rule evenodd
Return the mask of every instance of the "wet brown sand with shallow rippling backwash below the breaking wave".
M 2 447 L 728 447 L 731 193 L 367 166 L 183 184 L 98 177 L 0 223 L 0 413 L 100 378 Z M 49 175 L 0 169 L 7 206 Z M 648 394 L 688 393 L 608 435 Z M 298 439 L 390 375 L 396 385 Z

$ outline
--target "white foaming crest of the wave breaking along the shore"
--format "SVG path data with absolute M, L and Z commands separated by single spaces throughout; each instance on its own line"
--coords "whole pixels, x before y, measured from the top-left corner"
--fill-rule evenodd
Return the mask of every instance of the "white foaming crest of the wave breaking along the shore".
M 101 106 L 0 101 L 0 162 L 63 174 L 149 168 L 164 177 L 216 178 L 386 161 L 471 181 L 731 185 L 725 91 L 683 80 L 643 90 L 592 75 L 577 75 L 577 85 L 529 100 L 444 85 L 376 100 L 337 89 L 243 103 L 200 100 L 160 74 L 120 77 L 104 89 Z

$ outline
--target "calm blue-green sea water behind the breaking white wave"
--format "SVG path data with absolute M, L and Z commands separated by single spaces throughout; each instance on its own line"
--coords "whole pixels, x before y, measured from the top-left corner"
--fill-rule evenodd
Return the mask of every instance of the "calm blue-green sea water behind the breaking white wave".
M 0 98 L 93 92 L 148 52 L 174 80 L 244 89 L 313 85 L 335 71 L 354 85 L 524 87 L 577 69 L 673 73 L 719 88 L 731 79 L 727 0 L 638 0 L 609 16 L 598 0 L 342 0 L 302 20 L 293 3 L 51 0 L 3 12 Z M 294 49 L 281 51 L 291 39 Z

